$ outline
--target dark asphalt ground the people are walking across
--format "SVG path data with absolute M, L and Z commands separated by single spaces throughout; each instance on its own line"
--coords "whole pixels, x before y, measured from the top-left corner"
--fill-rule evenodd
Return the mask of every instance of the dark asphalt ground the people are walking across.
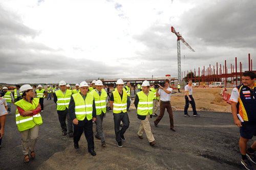
M 107 112 L 103 120 L 106 148 L 101 148 L 100 140 L 95 138 L 97 155 L 93 157 L 88 153 L 84 136 L 80 148 L 75 150 L 73 139 L 61 135 L 53 100 L 45 99 L 44 104 L 36 158 L 29 163 L 23 163 L 21 139 L 15 124 L 16 107 L 12 104 L 12 114 L 6 116 L 0 169 L 244 169 L 238 148 L 239 128 L 233 124 L 230 113 L 198 112 L 201 117 L 184 117 L 182 111 L 174 111 L 176 132 L 169 130 L 167 112 L 158 127 L 154 126 L 153 117 L 151 128 L 157 144 L 151 147 L 145 134 L 144 139 L 137 137 L 140 120 L 136 110 L 131 110 L 126 141 L 123 148 L 118 148 L 113 114 Z

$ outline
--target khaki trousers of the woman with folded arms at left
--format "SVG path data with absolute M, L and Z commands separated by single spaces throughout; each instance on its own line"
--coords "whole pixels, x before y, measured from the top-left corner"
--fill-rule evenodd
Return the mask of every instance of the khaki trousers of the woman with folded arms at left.
M 34 151 L 35 143 L 38 138 L 39 126 L 35 125 L 33 128 L 26 131 L 20 132 L 20 137 L 22 137 L 22 150 L 24 155 L 28 155 L 29 152 Z M 31 139 L 29 147 L 29 136 Z

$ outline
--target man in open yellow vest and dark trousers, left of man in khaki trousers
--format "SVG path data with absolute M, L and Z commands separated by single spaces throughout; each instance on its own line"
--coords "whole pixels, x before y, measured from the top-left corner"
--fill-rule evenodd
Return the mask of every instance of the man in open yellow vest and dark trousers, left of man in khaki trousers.
M 123 80 L 118 79 L 116 82 L 117 89 L 114 90 L 110 96 L 110 106 L 113 109 L 116 141 L 118 143 L 118 147 L 123 147 L 122 140 L 125 140 L 124 133 L 130 125 L 129 116 L 126 112 L 127 92 L 123 88 L 123 84 Z M 119 128 L 121 121 L 123 126 L 120 130 Z

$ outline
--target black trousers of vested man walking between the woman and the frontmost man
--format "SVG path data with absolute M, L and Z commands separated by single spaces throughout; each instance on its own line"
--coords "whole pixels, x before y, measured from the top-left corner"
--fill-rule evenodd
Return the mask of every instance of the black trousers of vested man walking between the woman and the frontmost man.
M 66 117 L 68 122 L 68 133 L 73 133 L 73 125 L 72 120 L 69 115 L 69 109 L 66 108 L 66 110 L 57 110 L 59 123 L 61 127 L 62 132 L 67 132 L 67 124 L 66 124 Z

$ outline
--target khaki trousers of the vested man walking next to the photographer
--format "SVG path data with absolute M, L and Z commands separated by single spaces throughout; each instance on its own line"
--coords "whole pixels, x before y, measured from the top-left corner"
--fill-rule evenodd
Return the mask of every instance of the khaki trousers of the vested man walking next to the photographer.
M 142 136 L 145 131 L 148 141 L 153 142 L 155 140 L 150 127 L 150 113 L 146 115 L 145 120 L 141 120 L 138 135 Z

